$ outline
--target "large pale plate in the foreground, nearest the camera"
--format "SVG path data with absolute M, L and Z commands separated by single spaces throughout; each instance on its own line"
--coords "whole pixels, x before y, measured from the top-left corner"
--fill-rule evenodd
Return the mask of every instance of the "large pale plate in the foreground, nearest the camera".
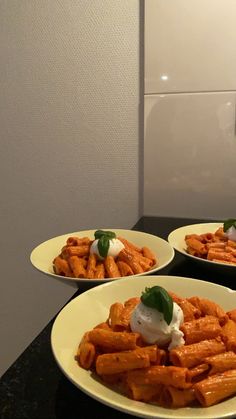
M 208 408 L 187 407 L 165 409 L 137 402 L 122 396 L 92 377 L 89 371 L 79 367 L 74 355 L 83 334 L 107 319 L 109 307 L 116 301 L 124 302 L 139 296 L 145 287 L 160 285 L 179 295 L 211 297 L 225 310 L 236 306 L 236 292 L 220 285 L 191 278 L 175 276 L 143 276 L 123 278 L 84 292 L 68 303 L 57 316 L 51 333 L 54 357 L 66 377 L 80 390 L 114 409 L 143 418 L 215 419 L 232 418 L 236 412 L 236 397 Z M 89 307 L 89 309 L 88 309 Z M 85 315 L 86 313 L 86 315 Z

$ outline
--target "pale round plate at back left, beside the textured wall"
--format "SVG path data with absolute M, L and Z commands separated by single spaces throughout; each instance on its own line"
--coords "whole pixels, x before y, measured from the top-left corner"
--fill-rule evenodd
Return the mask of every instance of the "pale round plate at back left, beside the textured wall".
M 106 230 L 106 229 L 104 229 Z M 108 229 L 109 230 L 109 229 Z M 53 271 L 53 259 L 59 255 L 62 247 L 65 245 L 66 240 L 70 236 L 79 236 L 79 237 L 89 237 L 94 239 L 94 233 L 96 230 L 84 230 L 77 231 L 73 233 L 67 233 L 62 236 L 54 237 L 50 240 L 47 240 L 37 246 L 30 255 L 31 263 L 39 271 L 54 276 L 57 278 L 63 278 L 63 280 L 72 280 L 78 282 L 96 282 L 96 284 L 101 284 L 104 282 L 110 282 L 118 278 L 105 278 L 105 279 L 85 279 L 85 278 L 71 278 L 56 275 Z M 158 264 L 154 265 L 152 269 L 148 272 L 142 274 L 136 274 L 133 276 L 140 276 L 151 274 L 157 272 L 160 269 L 167 266 L 172 259 L 174 258 L 174 249 L 173 247 L 164 239 L 154 236 L 152 234 L 143 233 L 141 231 L 135 230 L 121 230 L 121 229 L 111 229 L 117 236 L 123 237 L 130 242 L 136 244 L 139 247 L 147 246 L 153 253 L 156 255 Z

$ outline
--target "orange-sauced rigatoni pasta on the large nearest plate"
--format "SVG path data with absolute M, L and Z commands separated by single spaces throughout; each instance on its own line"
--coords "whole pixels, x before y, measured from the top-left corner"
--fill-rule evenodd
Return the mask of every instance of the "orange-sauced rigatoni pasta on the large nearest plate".
M 133 297 L 113 303 L 104 323 L 85 333 L 78 364 L 104 383 L 119 383 L 133 400 L 168 408 L 208 407 L 236 395 L 235 310 L 226 313 L 198 296 L 169 295 L 178 304 L 189 303 L 181 326 L 184 345 L 168 350 L 166 344 L 147 344 L 132 332 L 131 314 L 140 302 Z

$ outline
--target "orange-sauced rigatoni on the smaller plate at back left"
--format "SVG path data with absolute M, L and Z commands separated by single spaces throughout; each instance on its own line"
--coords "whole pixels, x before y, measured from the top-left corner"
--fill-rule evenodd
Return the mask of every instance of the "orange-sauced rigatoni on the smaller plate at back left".
M 102 245 L 106 248 L 112 240 L 112 232 L 98 230 L 104 233 Z M 96 235 L 96 233 L 95 233 Z M 96 237 L 96 236 L 95 236 Z M 113 237 L 113 236 L 112 236 Z M 101 239 L 101 237 L 100 237 Z M 71 278 L 86 278 L 91 280 L 104 278 L 120 278 L 143 274 L 158 265 L 154 252 L 147 246 L 138 247 L 130 241 L 119 237 L 120 249 L 116 256 L 104 254 L 103 257 L 94 253 L 95 240 L 89 237 L 68 237 L 61 252 L 53 260 L 55 274 Z M 106 249 L 107 250 L 107 249 Z

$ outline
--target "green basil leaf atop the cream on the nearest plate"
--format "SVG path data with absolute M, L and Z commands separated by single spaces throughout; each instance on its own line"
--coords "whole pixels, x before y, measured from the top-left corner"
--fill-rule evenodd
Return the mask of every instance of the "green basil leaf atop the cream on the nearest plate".
M 171 323 L 173 317 L 173 300 L 168 292 L 158 285 L 152 288 L 145 288 L 141 296 L 142 303 L 163 313 L 167 324 Z

